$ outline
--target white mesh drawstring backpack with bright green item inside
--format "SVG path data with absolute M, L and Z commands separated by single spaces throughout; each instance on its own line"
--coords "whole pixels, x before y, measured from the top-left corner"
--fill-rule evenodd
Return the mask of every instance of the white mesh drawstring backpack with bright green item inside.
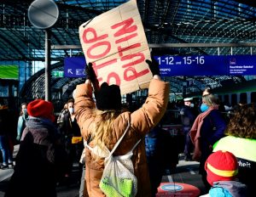
M 113 156 L 113 152 L 118 148 L 130 126 L 131 124 L 129 122 L 124 134 L 119 138 L 111 152 L 107 147 L 104 147 L 104 149 L 99 151 L 98 147 L 91 148 L 86 144 L 86 147 L 93 153 L 96 153 L 95 148 L 97 149 L 97 153 L 105 153 L 98 155 L 105 155 L 104 170 L 99 186 L 100 189 L 102 189 L 102 192 L 108 197 L 133 197 L 137 194 L 137 177 L 134 175 L 131 156 L 133 155 L 133 149 L 137 147 L 137 144 L 140 143 L 141 139 L 125 155 Z M 108 151 L 108 154 L 106 154 L 106 150 Z

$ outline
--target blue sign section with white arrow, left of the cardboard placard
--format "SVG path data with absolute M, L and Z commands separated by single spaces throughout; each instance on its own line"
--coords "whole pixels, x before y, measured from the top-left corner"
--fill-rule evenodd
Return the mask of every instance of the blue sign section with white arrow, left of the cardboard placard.
M 84 77 L 85 69 L 84 57 L 70 57 L 64 59 L 64 76 L 66 77 Z

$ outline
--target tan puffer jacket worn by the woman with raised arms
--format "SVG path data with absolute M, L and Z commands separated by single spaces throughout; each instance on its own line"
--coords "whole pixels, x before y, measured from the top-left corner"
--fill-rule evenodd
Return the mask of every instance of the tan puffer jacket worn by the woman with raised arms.
M 95 104 L 92 99 L 92 87 L 90 84 L 81 84 L 76 88 L 74 110 L 76 119 L 81 128 L 82 136 L 85 140 L 90 138 L 90 133 L 93 132 L 90 127 L 91 122 L 95 121 L 92 113 Z M 169 98 L 169 84 L 160 80 L 153 79 L 148 88 L 148 98 L 139 109 L 131 112 L 121 113 L 112 124 L 115 138 L 113 144 L 108 147 L 113 149 L 114 144 L 119 140 L 125 132 L 128 121 L 131 122 L 130 130 L 125 134 L 125 138 L 119 144 L 114 155 L 125 155 L 137 141 L 145 136 L 149 130 L 154 127 L 166 112 L 166 106 Z M 90 142 L 90 147 L 94 147 L 93 139 Z M 85 180 L 90 197 L 105 196 L 99 188 L 99 183 L 104 169 L 104 160 L 93 160 L 90 155 L 90 150 L 86 149 L 85 162 Z M 133 151 L 131 158 L 134 165 L 135 175 L 137 177 L 137 196 L 149 197 L 150 183 L 148 176 L 147 158 L 145 152 L 144 140 L 138 144 Z

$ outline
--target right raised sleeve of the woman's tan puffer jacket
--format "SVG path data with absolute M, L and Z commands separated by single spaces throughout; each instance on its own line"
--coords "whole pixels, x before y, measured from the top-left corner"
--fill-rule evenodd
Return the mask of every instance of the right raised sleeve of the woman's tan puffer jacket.
M 153 79 L 148 88 L 148 98 L 143 106 L 131 114 L 131 127 L 144 135 L 166 112 L 169 100 L 169 83 Z

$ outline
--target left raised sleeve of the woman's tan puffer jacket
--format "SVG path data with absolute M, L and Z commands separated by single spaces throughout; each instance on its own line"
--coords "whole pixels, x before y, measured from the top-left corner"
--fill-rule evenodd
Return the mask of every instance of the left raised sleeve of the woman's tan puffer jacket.
M 84 130 L 84 122 L 91 118 L 92 111 L 95 108 L 95 103 L 92 99 L 91 85 L 89 83 L 78 85 L 76 87 L 74 100 L 75 117 L 77 119 L 80 129 Z M 85 137 L 86 133 L 82 133 L 82 135 L 83 137 Z

